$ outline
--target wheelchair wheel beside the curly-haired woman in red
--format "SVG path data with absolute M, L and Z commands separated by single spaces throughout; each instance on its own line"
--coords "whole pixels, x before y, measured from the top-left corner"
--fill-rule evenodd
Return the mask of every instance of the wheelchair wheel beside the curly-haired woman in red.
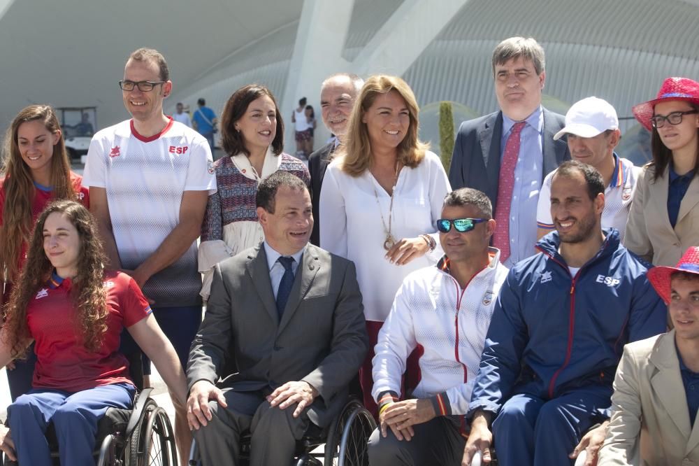
M 178 454 L 170 419 L 153 400 L 144 407 L 143 422 L 131 433 L 129 466 L 177 466 Z

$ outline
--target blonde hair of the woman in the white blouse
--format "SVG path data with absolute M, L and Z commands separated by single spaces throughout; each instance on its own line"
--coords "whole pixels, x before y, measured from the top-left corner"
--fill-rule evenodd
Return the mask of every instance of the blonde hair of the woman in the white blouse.
M 342 157 L 340 168 L 345 173 L 351 176 L 360 176 L 370 167 L 372 155 L 369 132 L 366 123 L 363 123 L 361 118 L 380 94 L 387 94 L 392 90 L 401 94 L 410 113 L 408 133 L 405 134 L 405 138 L 396 148 L 398 161 L 406 167 L 415 168 L 424 159 L 429 144 L 417 139 L 419 107 L 417 100 L 415 100 L 415 94 L 412 93 L 408 83 L 405 83 L 398 76 L 374 75 L 364 83 L 352 107 L 352 114 L 349 116 L 345 144 L 341 146 L 338 154 L 339 157 Z

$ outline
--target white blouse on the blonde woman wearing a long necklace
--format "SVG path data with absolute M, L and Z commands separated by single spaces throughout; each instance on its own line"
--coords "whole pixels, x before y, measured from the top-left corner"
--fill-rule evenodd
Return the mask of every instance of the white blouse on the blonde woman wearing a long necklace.
M 442 257 L 437 248 L 408 264 L 391 264 L 384 241 L 391 197 L 370 171 L 351 176 L 333 160 L 323 178 L 320 192 L 320 246 L 347 257 L 356 265 L 357 281 L 367 320 L 383 322 L 391 311 L 396 291 L 410 272 L 435 264 Z M 396 240 L 435 234 L 442 203 L 451 191 L 442 161 L 431 152 L 411 169 L 403 167 L 394 190 L 391 234 Z

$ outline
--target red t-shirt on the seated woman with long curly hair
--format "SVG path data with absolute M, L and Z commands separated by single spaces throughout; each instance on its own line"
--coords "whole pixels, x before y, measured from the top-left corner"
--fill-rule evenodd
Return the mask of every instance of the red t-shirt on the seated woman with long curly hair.
M 129 362 L 119 353 L 120 334 L 152 311 L 136 281 L 127 274 L 106 271 L 107 332 L 96 353 L 88 351 L 75 326 L 70 278 L 54 274 L 27 306 L 29 332 L 36 341 L 34 388 L 78 392 L 110 383 L 129 382 Z

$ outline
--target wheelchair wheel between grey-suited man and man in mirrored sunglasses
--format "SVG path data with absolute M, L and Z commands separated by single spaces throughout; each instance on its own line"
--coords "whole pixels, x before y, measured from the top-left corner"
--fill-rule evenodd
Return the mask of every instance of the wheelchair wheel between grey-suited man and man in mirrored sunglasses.
M 366 466 L 366 444 L 376 423 L 359 400 L 350 400 L 328 432 L 324 465 Z

